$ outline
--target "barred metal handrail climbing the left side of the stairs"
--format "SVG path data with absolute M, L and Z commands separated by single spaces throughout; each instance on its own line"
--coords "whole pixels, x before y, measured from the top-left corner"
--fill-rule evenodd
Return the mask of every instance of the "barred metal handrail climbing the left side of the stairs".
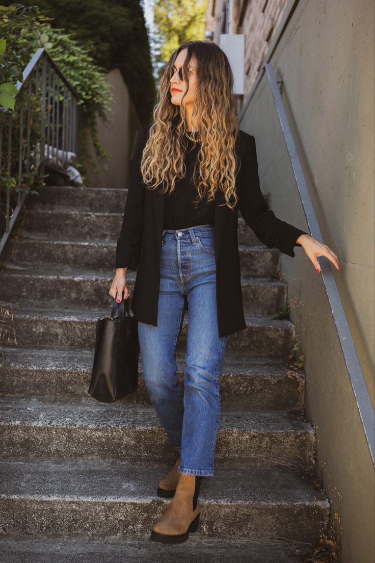
M 41 67 L 41 68 L 40 68 Z M 5 225 L 0 239 L 0 254 L 7 242 L 24 203 L 27 190 L 22 185 L 22 172 L 30 173 L 31 166 L 40 166 L 44 173 L 45 164 L 52 166 L 58 162 L 59 166 L 66 167 L 72 154 L 75 155 L 76 138 L 78 128 L 78 99 L 79 95 L 73 86 L 62 74 L 58 66 L 53 62 L 51 56 L 44 47 L 40 47 L 31 57 L 25 70 L 22 72 L 23 81 L 17 81 L 18 93 L 28 87 L 25 99 L 17 100 L 15 108 L 19 111 L 19 154 L 17 155 L 17 167 L 13 162 L 12 155 L 12 130 L 13 112 L 7 108 L 0 108 L 0 154 L 2 153 L 3 131 L 7 126 L 7 171 L 11 174 L 12 166 L 17 168 L 18 193 L 16 207 L 12 210 L 10 205 L 10 187 L 6 189 Z M 30 146 L 30 97 L 32 94 L 39 96 L 40 100 L 40 126 L 41 135 L 39 141 Z M 60 101 L 62 96 L 62 101 Z M 26 105 L 26 108 L 25 108 Z M 24 135 L 24 114 L 27 111 L 26 134 Z M 8 122 L 8 123 L 6 123 Z M 17 134 L 17 131 L 15 131 Z M 33 150 L 33 155 L 31 155 Z M 47 152 L 47 154 L 46 154 Z M 39 158 L 39 163 L 38 163 Z M 1 233 L 0 233 L 1 234 Z

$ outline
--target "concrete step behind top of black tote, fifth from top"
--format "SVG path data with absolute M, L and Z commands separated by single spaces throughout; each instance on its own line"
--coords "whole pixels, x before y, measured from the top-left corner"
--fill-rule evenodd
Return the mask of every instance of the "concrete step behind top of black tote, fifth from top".
M 110 307 L 64 304 L 51 307 L 12 307 L 13 324 L 8 323 L 15 338 L 6 346 L 94 350 L 98 318 L 110 315 Z M 177 351 L 186 349 L 187 319 L 185 315 Z M 295 325 L 290 320 L 270 319 L 266 315 L 245 314 L 246 328 L 228 336 L 227 352 L 247 356 L 279 356 L 290 354 L 295 342 Z

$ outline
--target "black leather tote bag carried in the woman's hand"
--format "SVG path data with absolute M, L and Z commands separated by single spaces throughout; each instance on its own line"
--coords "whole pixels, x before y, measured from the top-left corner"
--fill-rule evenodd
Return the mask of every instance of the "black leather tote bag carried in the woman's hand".
M 91 382 L 88 393 L 102 403 L 113 403 L 138 387 L 138 324 L 130 315 L 129 300 L 112 305 L 111 316 L 98 319 Z M 124 307 L 126 315 L 124 314 Z M 118 316 L 115 318 L 115 314 Z

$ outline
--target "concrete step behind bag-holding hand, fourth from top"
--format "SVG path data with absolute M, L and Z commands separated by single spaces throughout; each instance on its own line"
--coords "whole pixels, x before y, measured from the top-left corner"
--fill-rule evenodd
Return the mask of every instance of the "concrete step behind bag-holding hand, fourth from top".
M 78 270 L 71 266 L 43 266 L 9 268 L 0 271 L 2 300 L 25 305 L 34 303 L 95 303 L 96 306 L 112 305 L 109 295 L 114 272 Z M 25 284 L 25 280 L 28 280 Z M 126 276 L 130 295 L 134 289 L 135 272 Z M 287 285 L 274 278 L 242 279 L 244 309 L 252 314 L 272 314 L 281 311 L 286 303 Z

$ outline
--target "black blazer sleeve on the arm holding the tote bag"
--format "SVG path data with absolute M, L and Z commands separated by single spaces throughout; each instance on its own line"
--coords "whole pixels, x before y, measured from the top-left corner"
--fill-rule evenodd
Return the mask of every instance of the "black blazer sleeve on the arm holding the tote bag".
M 116 245 L 116 268 L 128 267 L 129 270 L 136 270 L 139 262 L 145 189 L 141 174 L 141 160 L 149 129 L 150 124 L 143 127 L 134 154 L 133 166 L 129 176 L 123 224 Z

